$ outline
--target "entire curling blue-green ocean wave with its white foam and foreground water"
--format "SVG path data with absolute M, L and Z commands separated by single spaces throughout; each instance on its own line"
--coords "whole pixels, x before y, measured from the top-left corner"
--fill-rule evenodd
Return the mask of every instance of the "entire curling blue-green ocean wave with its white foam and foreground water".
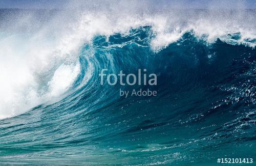
M 69 31 L 60 27 L 61 35 L 50 25 L 23 34 L 2 27 L 0 163 L 203 165 L 226 155 L 253 158 L 255 24 L 205 30 L 206 20 L 172 27 L 170 16 L 158 18 L 113 25 L 85 14 L 63 27 Z M 147 69 L 157 74 L 157 86 L 100 85 L 101 69 L 137 76 Z M 157 96 L 125 98 L 120 88 Z

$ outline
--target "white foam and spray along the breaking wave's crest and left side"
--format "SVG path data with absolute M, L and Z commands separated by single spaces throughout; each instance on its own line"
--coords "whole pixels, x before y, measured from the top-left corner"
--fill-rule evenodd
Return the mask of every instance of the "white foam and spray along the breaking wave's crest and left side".
M 24 11 L 17 11 L 13 15 L 20 15 L 20 13 L 26 16 L 29 13 L 30 17 L 25 17 L 25 20 L 18 17 L 19 20 L 15 20 L 18 22 L 16 29 L 19 31 L 20 26 L 24 26 L 24 21 L 30 23 L 36 19 L 31 17 L 34 13 L 31 14 L 29 11 L 25 11 L 25 14 Z M 228 18 L 238 15 L 232 11 L 212 13 L 201 10 L 188 13 L 178 12 L 181 15 L 179 17 L 175 12 L 146 14 L 145 16 L 135 13 L 132 16 L 120 15 L 117 18 L 113 18 L 112 13 L 105 15 L 81 13 L 68 25 L 64 27 L 58 25 L 58 32 L 55 30 L 56 23 L 53 21 L 56 19 L 60 20 L 59 22 L 66 21 L 69 17 L 63 19 L 63 16 L 59 16 L 60 14 L 55 14 L 56 16 L 51 17 L 48 24 L 36 32 L 34 32 L 35 27 L 28 27 L 24 35 L 2 33 L 1 66 L 3 69 L 1 75 L 2 82 L 5 84 L 1 86 L 3 94 L 1 95 L 1 117 L 19 115 L 67 92 L 81 70 L 79 64 L 81 47 L 92 43 L 98 35 L 105 36 L 106 40 L 109 40 L 116 34 L 120 34 L 122 38 L 127 38 L 126 42 L 133 42 L 139 37 L 131 32 L 148 26 L 151 27 L 151 32 L 145 34 L 148 36 L 143 39 L 146 40 L 144 44 L 156 52 L 171 43 L 180 41 L 187 33 L 193 34 L 196 37 L 195 40 L 204 40 L 209 45 L 220 39 L 232 45 L 244 44 L 255 47 L 254 25 L 248 23 L 250 19 L 253 20 L 250 18 L 253 11 L 248 11 L 249 14 L 246 15 L 250 18 L 248 20 L 241 20 L 241 16 L 229 20 Z M 62 13 L 62 15 L 67 14 Z M 212 15 L 215 17 L 209 19 Z M 217 17 L 219 15 L 222 16 L 221 19 Z M 5 31 L 8 30 L 4 29 Z M 120 44 L 122 47 L 122 44 L 127 43 Z M 16 49 L 12 49 L 13 47 Z M 94 56 L 93 52 L 90 52 L 88 56 Z M 67 75 L 73 76 L 67 80 Z

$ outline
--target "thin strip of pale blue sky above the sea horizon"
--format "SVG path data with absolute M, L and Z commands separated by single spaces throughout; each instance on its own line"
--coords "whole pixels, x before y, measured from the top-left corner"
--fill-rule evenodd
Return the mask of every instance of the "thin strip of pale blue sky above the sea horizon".
M 1 0 L 0 8 L 19 8 L 19 9 L 67 9 L 88 6 L 90 4 L 105 4 L 105 3 L 122 3 L 129 2 L 121 1 L 100 1 L 100 0 Z M 130 1 L 131 2 L 131 1 Z M 129 2 L 129 3 L 130 3 Z M 152 6 L 167 6 L 168 8 L 192 8 L 192 9 L 207 9 L 207 8 L 225 8 L 225 9 L 255 9 L 255 0 L 140 0 L 138 2 L 146 2 Z M 128 4 L 129 4 L 128 3 Z M 136 0 L 132 0 L 136 4 Z

